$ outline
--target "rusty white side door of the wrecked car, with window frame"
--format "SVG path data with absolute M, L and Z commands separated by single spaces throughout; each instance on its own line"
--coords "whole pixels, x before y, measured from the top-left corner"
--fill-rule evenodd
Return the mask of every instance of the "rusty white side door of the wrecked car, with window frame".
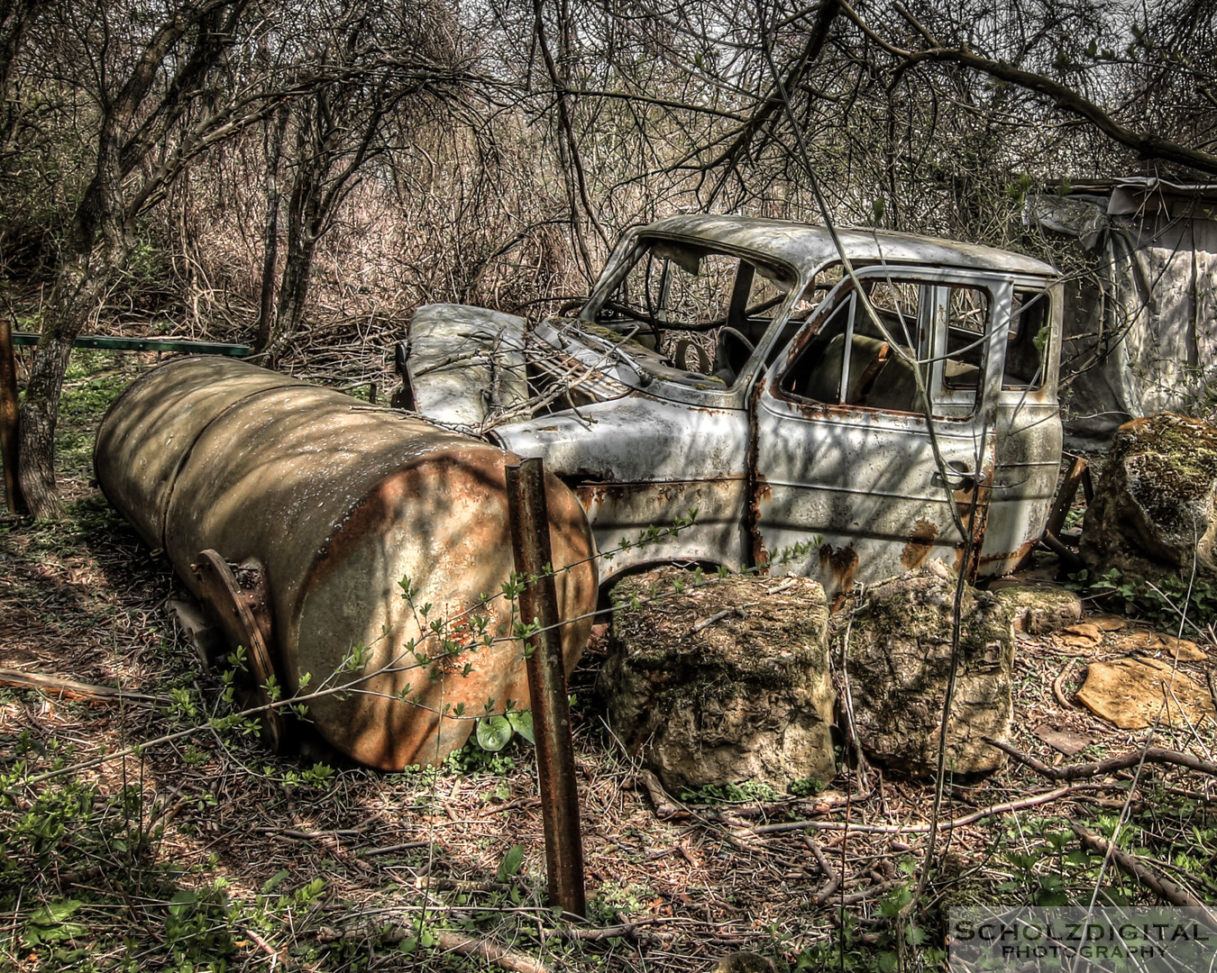
M 1003 350 L 993 321 L 1009 316 L 1000 280 L 887 268 L 859 279 L 873 314 L 843 280 L 753 398 L 753 558 L 818 578 L 830 597 L 931 558 L 975 570 Z

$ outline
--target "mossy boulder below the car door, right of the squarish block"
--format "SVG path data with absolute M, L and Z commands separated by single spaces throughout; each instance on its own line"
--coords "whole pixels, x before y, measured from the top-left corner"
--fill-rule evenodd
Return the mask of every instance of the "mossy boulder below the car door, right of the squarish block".
M 912 775 L 938 760 L 942 707 L 950 675 L 955 575 L 931 561 L 867 590 L 852 614 L 835 619 L 848 664 L 853 725 L 867 755 Z M 959 674 L 947 724 L 947 767 L 996 770 L 1005 761 L 981 737 L 1010 731 L 1014 629 L 1005 607 L 965 586 Z

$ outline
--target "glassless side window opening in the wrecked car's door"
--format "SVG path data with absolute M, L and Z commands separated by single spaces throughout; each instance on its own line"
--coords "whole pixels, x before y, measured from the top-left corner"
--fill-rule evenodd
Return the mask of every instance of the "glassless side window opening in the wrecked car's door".
M 843 296 L 779 390 L 825 405 L 920 415 L 920 370 L 935 415 L 970 415 L 981 388 L 989 293 L 890 277 L 864 286 L 874 317 L 857 294 Z

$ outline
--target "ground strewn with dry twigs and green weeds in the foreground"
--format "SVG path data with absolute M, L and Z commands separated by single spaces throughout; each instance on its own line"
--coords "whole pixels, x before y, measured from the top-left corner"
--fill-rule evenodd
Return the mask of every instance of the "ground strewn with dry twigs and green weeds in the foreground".
M 1217 901 L 1215 781 L 1179 767 L 1070 786 L 1011 763 L 953 781 L 941 821 L 1020 806 L 941 829 L 932 859 L 932 781 L 874 767 L 843 767 L 818 795 L 741 786 L 657 806 L 605 725 L 600 640 L 572 680 L 588 917 L 557 916 L 518 738 L 386 775 L 212 729 L 228 712 L 220 677 L 168 609 L 185 592 L 90 482 L 100 412 L 147 361 L 74 361 L 60 433 L 69 516 L 0 521 L 0 668 L 130 694 L 0 688 L 0 969 L 674 973 L 736 950 L 778 969 L 941 968 L 952 906 L 1095 890 L 1155 901 L 1082 849 L 1072 821 Z M 1010 743 L 1056 765 L 1144 746 L 1148 731 L 1073 699 L 1089 662 L 1126 654 L 1120 637 L 1020 637 Z M 1212 651 L 1211 630 L 1191 637 Z M 1212 667 L 1183 664 L 1201 681 Z M 1083 748 L 1065 758 L 1042 727 Z M 1212 760 L 1215 727 L 1160 729 L 1152 743 Z M 812 823 L 765 829 L 795 821 Z

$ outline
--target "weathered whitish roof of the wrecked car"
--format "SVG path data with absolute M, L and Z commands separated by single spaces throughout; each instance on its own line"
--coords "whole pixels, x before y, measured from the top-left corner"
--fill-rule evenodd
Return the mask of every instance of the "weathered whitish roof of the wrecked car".
M 751 251 L 791 264 L 808 275 L 839 259 L 836 243 L 828 227 L 761 216 L 706 214 L 668 216 L 644 226 L 641 234 L 671 235 L 699 240 L 711 246 Z M 865 229 L 839 229 L 837 236 L 851 263 L 935 264 L 1033 274 L 1043 277 L 1058 276 L 1056 270 L 1042 260 L 978 243 Z

